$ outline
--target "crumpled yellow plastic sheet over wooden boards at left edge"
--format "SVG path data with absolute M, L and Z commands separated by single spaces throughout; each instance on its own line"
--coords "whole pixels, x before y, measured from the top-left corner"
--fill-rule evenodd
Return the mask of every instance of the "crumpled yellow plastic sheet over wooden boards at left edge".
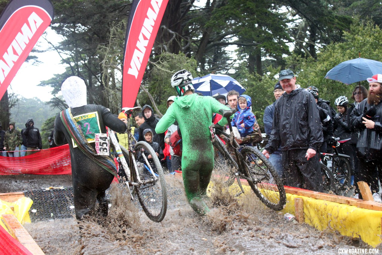
M 26 222 L 31 223 L 31 219 L 29 217 L 29 209 L 31 208 L 32 204 L 32 199 L 26 197 L 20 198 L 13 203 L 2 201 L 0 199 L 0 219 L 2 219 L 3 214 L 14 214 L 21 224 Z M 13 207 L 14 211 L 12 211 L 11 207 Z M 3 224 L 3 221 L 0 221 L 0 225 L 5 230 L 8 230 L 7 227 Z

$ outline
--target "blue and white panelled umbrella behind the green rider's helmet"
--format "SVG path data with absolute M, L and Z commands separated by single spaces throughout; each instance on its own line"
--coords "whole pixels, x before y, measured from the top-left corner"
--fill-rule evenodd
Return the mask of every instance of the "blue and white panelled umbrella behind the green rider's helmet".
M 245 92 L 245 88 L 237 80 L 225 74 L 196 77 L 192 80 L 192 84 L 195 92 L 202 93 L 204 96 L 213 96 L 217 93 L 226 96 L 230 90 L 236 90 L 240 95 Z

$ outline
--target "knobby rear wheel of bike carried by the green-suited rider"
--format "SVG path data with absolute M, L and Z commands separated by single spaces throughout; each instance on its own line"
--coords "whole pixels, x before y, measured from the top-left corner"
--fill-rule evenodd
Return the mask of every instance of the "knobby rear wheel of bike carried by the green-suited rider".
M 256 196 L 272 210 L 283 209 L 286 203 L 285 190 L 272 164 L 255 147 L 244 147 L 241 155 L 245 168 L 243 172 Z

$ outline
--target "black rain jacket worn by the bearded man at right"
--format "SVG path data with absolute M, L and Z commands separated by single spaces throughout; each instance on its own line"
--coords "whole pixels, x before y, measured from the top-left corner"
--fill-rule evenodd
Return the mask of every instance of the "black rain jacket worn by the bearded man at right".
M 376 105 L 377 113 L 372 119 L 375 122 L 374 128 L 369 129 L 362 123 L 364 110 L 369 110 L 371 105 L 367 103 L 367 98 L 359 103 L 350 114 L 351 125 L 358 129 L 359 137 L 357 142 L 358 155 L 365 161 L 380 160 L 382 156 L 382 101 Z

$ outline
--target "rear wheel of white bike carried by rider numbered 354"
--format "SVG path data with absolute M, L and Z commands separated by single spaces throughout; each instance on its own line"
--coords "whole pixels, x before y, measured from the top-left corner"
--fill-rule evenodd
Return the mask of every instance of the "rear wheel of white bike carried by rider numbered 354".
M 139 203 L 149 219 L 160 222 L 167 211 L 167 187 L 162 166 L 154 149 L 147 142 L 137 142 L 134 151 L 135 159 L 137 159 L 138 153 L 146 155 L 146 159 L 142 160 L 144 162 L 139 163 L 137 161 L 139 178 L 144 181 L 144 184 L 141 184 L 139 188 L 136 186 Z M 148 155 L 151 155 L 152 159 L 148 159 Z M 154 171 L 156 179 L 152 175 L 150 168 Z M 135 173 L 133 177 L 133 180 L 138 182 Z

